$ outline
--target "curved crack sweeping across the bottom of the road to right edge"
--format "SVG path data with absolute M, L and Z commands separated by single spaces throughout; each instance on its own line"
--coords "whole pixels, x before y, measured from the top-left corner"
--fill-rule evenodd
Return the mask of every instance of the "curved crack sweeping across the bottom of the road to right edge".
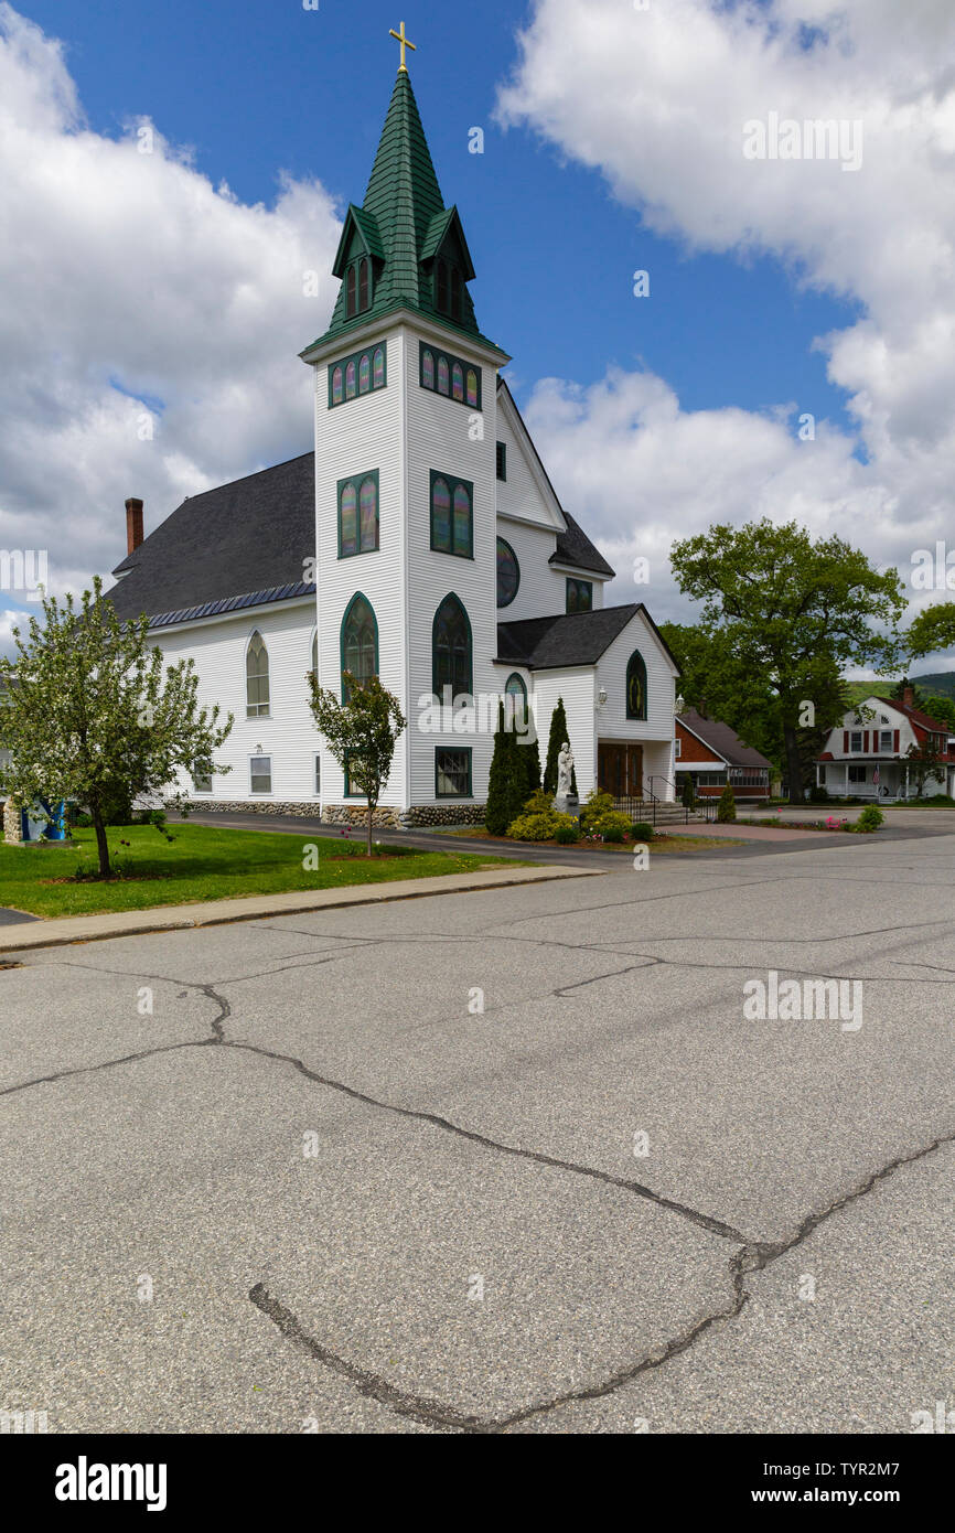
M 808 1237 L 822 1223 L 825 1223 L 825 1220 L 865 1197 L 874 1187 L 877 1187 L 878 1182 L 883 1182 L 903 1167 L 923 1160 L 943 1145 L 952 1142 L 955 1142 L 955 1130 L 949 1134 L 940 1134 L 929 1145 L 923 1145 L 911 1154 L 897 1156 L 894 1160 L 889 1160 L 877 1171 L 863 1177 L 861 1182 L 849 1188 L 848 1193 L 832 1199 L 825 1208 L 808 1214 L 788 1240 L 743 1240 L 740 1243 L 740 1249 L 731 1259 L 728 1269 L 733 1283 L 731 1305 L 722 1309 L 710 1311 L 699 1320 L 694 1320 L 690 1326 L 684 1328 L 662 1346 L 655 1348 L 645 1357 L 639 1358 L 639 1361 L 618 1369 L 615 1374 L 599 1380 L 598 1383 L 587 1384 L 583 1389 L 572 1389 L 560 1395 L 552 1395 L 549 1400 L 535 1401 L 533 1404 L 524 1406 L 521 1410 L 514 1410 L 506 1416 L 468 1415 L 457 1410 L 454 1406 L 443 1404 L 441 1401 L 402 1390 L 395 1384 L 382 1378 L 379 1374 L 374 1374 L 369 1369 L 357 1367 L 354 1363 L 348 1363 L 345 1358 L 339 1357 L 330 1348 L 323 1348 L 308 1334 L 297 1315 L 268 1292 L 264 1283 L 256 1283 L 254 1288 L 250 1289 L 248 1297 L 251 1303 L 262 1311 L 262 1314 L 268 1315 L 287 1340 L 310 1352 L 311 1357 L 323 1363 L 327 1367 L 350 1378 L 356 1384 L 360 1395 L 377 1400 L 379 1404 L 386 1406 L 389 1410 L 395 1412 L 395 1415 L 408 1416 L 425 1426 L 451 1430 L 457 1429 L 466 1435 L 495 1435 L 507 1432 L 510 1427 L 521 1426 L 535 1416 L 543 1416 L 552 1410 L 558 1410 L 563 1406 L 579 1404 L 589 1400 L 602 1400 L 607 1395 L 615 1393 L 618 1389 L 622 1389 L 625 1384 L 633 1383 L 633 1380 L 639 1378 L 641 1374 L 662 1367 L 671 1358 L 679 1357 L 681 1352 L 687 1352 L 719 1321 L 739 1318 L 751 1298 L 745 1283 L 750 1272 L 762 1272 L 773 1262 L 777 1262 L 780 1257 L 786 1256 L 789 1251 L 796 1249 L 796 1246 L 800 1246 L 805 1240 L 808 1240 Z

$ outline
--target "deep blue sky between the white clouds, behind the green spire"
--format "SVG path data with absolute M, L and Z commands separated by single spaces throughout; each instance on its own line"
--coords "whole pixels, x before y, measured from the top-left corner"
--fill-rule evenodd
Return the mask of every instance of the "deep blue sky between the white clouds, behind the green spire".
M 360 201 L 397 67 L 388 32 L 403 17 L 420 44 L 411 72 L 441 190 L 461 210 L 478 273 L 478 319 L 512 353 L 518 399 L 537 379 L 587 385 L 616 363 L 664 376 L 684 409 L 794 402 L 842 419 L 845 392 L 812 339 L 854 307 L 800 291 L 773 258 L 688 254 L 641 227 L 599 172 L 527 129 L 495 126 L 527 20 L 515 0 L 320 0 L 317 12 L 294 0 L 25 0 L 21 12 L 67 44 L 94 130 L 120 135 L 147 115 L 213 182 L 267 204 L 281 170 Z M 483 156 L 468 152 L 472 126 L 484 129 Z M 641 153 L 651 144 L 635 144 Z M 638 268 L 650 271 L 650 299 L 633 297 Z

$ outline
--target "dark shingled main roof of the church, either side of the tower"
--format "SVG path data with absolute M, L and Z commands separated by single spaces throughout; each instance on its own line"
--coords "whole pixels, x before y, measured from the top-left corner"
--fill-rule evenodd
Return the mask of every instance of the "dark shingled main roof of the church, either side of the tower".
M 566 515 L 566 514 L 564 514 Z M 583 569 L 610 569 L 567 517 L 558 555 Z M 262 606 L 310 595 L 302 566 L 314 556 L 314 452 L 184 500 L 117 566 L 129 570 L 109 592 L 121 618 L 147 612 L 164 624 L 212 616 L 207 609 Z M 556 555 L 555 555 L 556 558 Z M 253 601 L 251 596 L 259 599 Z

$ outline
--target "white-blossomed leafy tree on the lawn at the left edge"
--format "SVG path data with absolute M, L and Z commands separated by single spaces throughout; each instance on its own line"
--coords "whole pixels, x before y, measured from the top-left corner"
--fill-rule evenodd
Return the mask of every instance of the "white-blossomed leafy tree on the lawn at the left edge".
M 100 877 L 110 877 L 106 817 L 118 797 L 175 791 L 178 771 L 216 766 L 213 753 L 233 717 L 199 708 L 195 662 L 164 665 L 149 642 L 149 618 L 121 621 L 97 576 L 80 607 L 43 598 L 43 621 L 31 618 L 26 639 L 14 629 L 17 653 L 0 659 L 6 705 L 0 708 L 0 786 L 23 805 L 72 799 L 87 811 L 97 835 Z

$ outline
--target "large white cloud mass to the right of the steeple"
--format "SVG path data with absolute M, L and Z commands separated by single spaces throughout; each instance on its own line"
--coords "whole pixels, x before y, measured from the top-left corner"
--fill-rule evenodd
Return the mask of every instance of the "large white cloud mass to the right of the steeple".
M 598 169 L 682 248 L 770 253 L 861 314 L 817 342 L 857 435 L 823 426 L 800 443 L 760 414 L 685 412 L 645 376 L 538 386 L 530 419 L 558 491 L 605 538 L 616 530 L 618 561 L 763 510 L 838 530 L 903 573 L 914 547 L 952 541 L 953 44 L 950 0 L 537 0 L 503 121 Z M 861 169 L 745 159 L 743 124 L 770 112 L 861 121 Z M 639 537 L 633 517 L 616 520 L 610 454 Z

